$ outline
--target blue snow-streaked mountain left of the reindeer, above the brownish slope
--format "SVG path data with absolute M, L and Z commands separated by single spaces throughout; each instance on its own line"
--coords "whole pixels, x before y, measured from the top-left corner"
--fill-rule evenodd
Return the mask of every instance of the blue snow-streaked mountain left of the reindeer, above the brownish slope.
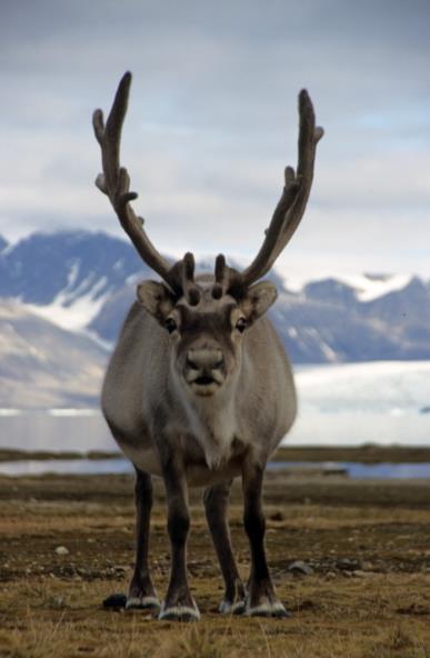
M 104 233 L 34 233 L 1 252 L 0 297 L 66 329 L 83 329 L 133 275 L 150 276 L 124 240 Z

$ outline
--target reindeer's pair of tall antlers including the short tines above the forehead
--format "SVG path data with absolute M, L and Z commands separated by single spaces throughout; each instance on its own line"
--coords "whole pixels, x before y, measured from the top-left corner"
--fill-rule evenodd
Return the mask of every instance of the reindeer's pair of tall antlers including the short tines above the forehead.
M 177 295 L 186 295 L 196 306 L 200 300 L 199 287 L 194 282 L 194 257 L 186 253 L 182 260 L 170 267 L 143 230 L 143 219 L 138 217 L 130 201 L 138 198 L 130 191 L 130 177 L 120 167 L 121 130 L 127 112 L 131 84 L 131 73 L 127 72 L 118 87 L 108 121 L 103 123 L 103 112 L 96 110 L 92 124 L 101 148 L 103 173 L 96 180 L 97 187 L 109 197 L 110 202 L 143 261 L 170 286 Z M 216 283 L 212 295 L 216 299 L 227 291 L 241 295 L 251 283 L 261 279 L 273 266 L 286 248 L 303 216 L 313 179 L 313 164 L 317 143 L 323 136 L 322 128 L 316 127 L 312 102 L 303 89 L 299 94 L 299 160 L 297 172 L 292 167 L 284 171 L 286 185 L 282 197 L 266 231 L 264 241 L 251 262 L 242 272 L 228 267 L 222 255 L 217 257 Z

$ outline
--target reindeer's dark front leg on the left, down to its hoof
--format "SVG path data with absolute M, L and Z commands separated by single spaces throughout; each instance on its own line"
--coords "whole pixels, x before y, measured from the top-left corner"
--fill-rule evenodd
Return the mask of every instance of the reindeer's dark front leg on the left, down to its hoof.
M 194 621 L 199 609 L 191 596 L 187 578 L 187 538 L 190 529 L 188 486 L 183 463 L 169 457 L 162 465 L 167 505 L 168 534 L 171 546 L 171 574 L 159 619 Z

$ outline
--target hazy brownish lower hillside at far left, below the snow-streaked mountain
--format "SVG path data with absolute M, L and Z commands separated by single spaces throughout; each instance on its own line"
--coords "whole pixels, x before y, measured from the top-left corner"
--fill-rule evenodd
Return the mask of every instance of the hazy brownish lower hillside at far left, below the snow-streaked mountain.
M 0 302 L 0 408 L 97 407 L 108 353 L 22 306 Z

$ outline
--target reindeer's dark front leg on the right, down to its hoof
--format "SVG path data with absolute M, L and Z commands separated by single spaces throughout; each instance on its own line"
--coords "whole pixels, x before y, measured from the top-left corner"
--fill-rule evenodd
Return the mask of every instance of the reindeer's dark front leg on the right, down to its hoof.
M 266 520 L 261 505 L 264 467 L 249 455 L 242 467 L 244 499 L 243 525 L 251 549 L 251 571 L 248 580 L 246 615 L 251 617 L 288 617 L 277 597 L 266 559 Z

